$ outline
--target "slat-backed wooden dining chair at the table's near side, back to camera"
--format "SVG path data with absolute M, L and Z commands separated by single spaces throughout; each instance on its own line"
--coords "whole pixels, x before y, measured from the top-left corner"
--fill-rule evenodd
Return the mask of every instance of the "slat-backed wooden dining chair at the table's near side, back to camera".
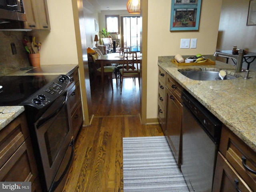
M 134 78 L 134 85 L 136 77 L 140 86 L 140 69 L 138 67 L 137 52 L 124 52 L 122 68 L 119 70 L 120 74 L 120 94 L 122 94 L 124 78 Z

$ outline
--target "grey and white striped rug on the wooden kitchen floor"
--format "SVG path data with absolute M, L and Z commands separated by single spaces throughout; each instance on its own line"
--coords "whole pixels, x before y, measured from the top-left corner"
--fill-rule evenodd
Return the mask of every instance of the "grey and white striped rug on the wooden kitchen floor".
M 165 136 L 123 138 L 124 192 L 189 192 Z

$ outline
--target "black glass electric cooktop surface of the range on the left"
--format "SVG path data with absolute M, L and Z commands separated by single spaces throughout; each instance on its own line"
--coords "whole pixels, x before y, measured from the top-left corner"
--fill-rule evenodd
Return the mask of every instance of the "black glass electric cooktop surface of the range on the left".
M 19 105 L 58 76 L 0 76 L 0 106 Z

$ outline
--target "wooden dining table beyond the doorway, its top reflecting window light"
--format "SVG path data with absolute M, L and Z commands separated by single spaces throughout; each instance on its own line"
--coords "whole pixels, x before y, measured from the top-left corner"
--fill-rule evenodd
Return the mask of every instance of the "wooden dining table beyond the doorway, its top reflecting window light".
M 128 57 L 129 59 L 129 57 Z M 130 58 L 132 59 L 132 58 Z M 138 63 L 141 62 L 142 54 L 140 52 L 137 52 L 137 60 Z M 124 62 L 124 56 L 120 52 L 116 53 L 109 53 L 105 55 L 100 55 L 98 59 L 95 59 L 96 63 L 100 64 L 101 67 L 101 83 L 102 83 L 102 91 L 104 91 L 104 66 L 110 65 L 110 64 L 123 64 Z

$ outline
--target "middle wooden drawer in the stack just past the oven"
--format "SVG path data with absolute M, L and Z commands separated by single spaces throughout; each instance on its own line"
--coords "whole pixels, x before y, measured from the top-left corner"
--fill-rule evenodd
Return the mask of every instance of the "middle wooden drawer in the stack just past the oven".
M 70 89 L 68 92 L 69 95 L 69 104 L 71 114 L 74 112 L 76 105 L 81 102 L 81 94 L 80 94 L 80 84 L 76 82 L 76 84 Z

